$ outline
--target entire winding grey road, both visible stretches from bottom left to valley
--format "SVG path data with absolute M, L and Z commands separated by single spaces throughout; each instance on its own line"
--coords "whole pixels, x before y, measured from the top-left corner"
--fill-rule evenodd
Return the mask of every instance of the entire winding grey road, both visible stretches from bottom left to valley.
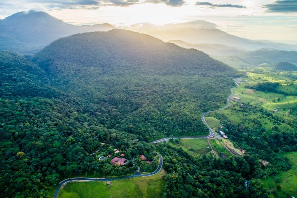
M 237 82 L 235 82 L 235 83 L 236 83 L 237 86 L 239 86 L 237 84 Z M 155 141 L 151 142 L 151 144 L 161 143 L 161 142 L 164 142 L 164 141 L 168 141 L 169 139 L 178 139 L 178 138 L 180 138 L 180 139 L 207 139 L 207 138 L 212 138 L 214 136 L 214 134 L 213 134 L 212 129 L 208 126 L 208 124 L 205 121 L 205 115 L 207 115 L 208 113 L 211 113 L 211 112 L 221 111 L 221 110 L 224 110 L 224 109 L 228 108 L 231 105 L 230 99 L 231 99 L 231 97 L 232 97 L 233 94 L 234 94 L 234 88 L 231 88 L 231 95 L 227 98 L 227 104 L 224 107 L 222 107 L 220 109 L 217 109 L 217 110 L 207 111 L 207 112 L 202 113 L 202 115 L 201 115 L 202 122 L 209 129 L 209 135 L 208 136 L 196 136 L 196 137 L 176 136 L 176 137 L 168 137 L 168 138 L 162 138 L 160 140 L 155 140 Z M 61 189 L 61 187 L 63 185 L 65 185 L 65 184 L 67 184 L 68 182 L 89 182 L 89 181 L 106 182 L 106 181 L 113 181 L 113 180 L 127 179 L 127 178 L 146 177 L 146 176 L 151 176 L 151 175 L 157 174 L 161 170 L 162 165 L 163 165 L 162 155 L 158 153 L 158 156 L 159 156 L 159 166 L 152 173 L 140 174 L 139 172 L 136 172 L 133 175 L 123 176 L 123 177 L 114 177 L 114 178 L 89 178 L 89 177 L 68 178 L 68 179 L 65 179 L 65 180 L 63 180 L 63 181 L 61 181 L 59 183 L 59 185 L 58 185 L 58 187 L 57 187 L 57 189 L 56 189 L 56 191 L 54 193 L 53 198 L 57 198 L 58 193 L 59 193 L 59 190 Z

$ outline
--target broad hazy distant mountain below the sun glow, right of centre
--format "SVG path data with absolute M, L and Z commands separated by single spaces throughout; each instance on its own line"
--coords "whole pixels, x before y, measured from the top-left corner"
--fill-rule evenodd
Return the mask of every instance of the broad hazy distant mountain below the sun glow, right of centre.
M 237 37 L 219 30 L 215 24 L 207 21 L 190 21 L 161 26 L 142 23 L 132 25 L 128 27 L 128 29 L 146 33 L 164 41 L 181 40 L 192 44 L 219 44 L 246 50 L 257 50 L 262 48 L 297 50 L 297 46 L 294 45 L 253 41 Z

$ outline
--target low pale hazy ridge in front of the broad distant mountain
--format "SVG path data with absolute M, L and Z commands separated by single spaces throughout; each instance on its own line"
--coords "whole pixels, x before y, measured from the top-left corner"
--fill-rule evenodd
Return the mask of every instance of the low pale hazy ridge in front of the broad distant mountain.
M 168 41 L 169 43 L 174 43 L 180 47 L 187 48 L 187 49 L 198 49 L 203 51 L 207 54 L 211 55 L 219 55 L 219 56 L 228 56 L 228 55 L 240 55 L 244 53 L 245 49 L 234 48 L 230 46 L 224 46 L 220 44 L 190 44 L 180 40 L 172 40 Z

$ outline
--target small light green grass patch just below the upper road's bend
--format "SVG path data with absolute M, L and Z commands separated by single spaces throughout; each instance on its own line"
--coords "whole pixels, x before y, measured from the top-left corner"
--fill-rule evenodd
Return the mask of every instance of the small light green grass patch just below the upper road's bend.
M 173 147 L 183 148 L 183 150 L 191 154 L 206 154 L 211 149 L 205 139 L 180 139 L 179 143 L 175 141 L 173 143 L 168 142 Z

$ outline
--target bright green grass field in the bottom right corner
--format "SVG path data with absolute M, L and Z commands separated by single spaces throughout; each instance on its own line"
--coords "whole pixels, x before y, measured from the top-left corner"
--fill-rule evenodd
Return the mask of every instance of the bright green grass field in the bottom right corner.
M 297 197 L 297 152 L 286 152 L 282 155 L 289 159 L 291 169 L 263 180 L 264 187 L 274 189 L 281 198 L 286 198 L 285 193 Z

